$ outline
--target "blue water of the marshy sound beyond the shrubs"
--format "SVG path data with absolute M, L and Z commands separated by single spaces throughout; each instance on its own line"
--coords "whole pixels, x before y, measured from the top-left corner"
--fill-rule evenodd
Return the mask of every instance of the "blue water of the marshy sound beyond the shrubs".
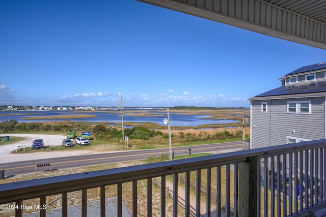
M 142 110 L 143 111 L 143 110 Z M 130 112 L 130 110 L 128 111 Z M 166 110 L 154 110 L 150 109 L 151 115 L 155 116 L 133 116 L 124 114 L 124 122 L 153 122 L 158 123 L 159 125 L 164 125 L 164 118 L 168 118 Z M 139 111 L 133 110 L 133 114 L 137 114 Z M 77 114 L 86 114 L 86 115 L 96 115 L 96 117 L 89 118 L 58 118 L 58 119 L 34 119 L 34 120 L 23 120 L 25 117 L 35 117 L 35 116 L 49 116 L 49 115 L 77 115 Z M 179 114 L 170 112 L 170 125 L 171 126 L 199 126 L 205 124 L 217 124 L 217 123 L 233 123 L 237 122 L 236 120 L 217 120 L 217 119 L 206 119 L 209 115 L 189 115 L 189 114 Z M 204 119 L 203 119 L 204 118 Z M 1 111 L 0 120 L 6 121 L 14 119 L 18 122 L 40 122 L 40 121 L 60 121 L 60 120 L 71 120 L 71 121 L 87 121 L 87 122 L 115 122 L 117 125 L 121 125 L 121 117 L 119 111 L 115 113 L 107 113 L 105 111 L 92 111 L 92 112 L 74 112 L 74 111 Z

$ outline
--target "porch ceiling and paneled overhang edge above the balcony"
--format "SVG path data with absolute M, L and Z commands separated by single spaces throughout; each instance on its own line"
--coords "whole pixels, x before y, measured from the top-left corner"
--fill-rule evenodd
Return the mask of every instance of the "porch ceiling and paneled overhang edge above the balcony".
M 326 49 L 324 0 L 138 0 Z

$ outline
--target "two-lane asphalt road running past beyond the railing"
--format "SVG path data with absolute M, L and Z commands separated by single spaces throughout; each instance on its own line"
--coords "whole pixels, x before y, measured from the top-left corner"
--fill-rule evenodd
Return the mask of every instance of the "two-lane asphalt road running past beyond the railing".
M 241 150 L 241 142 L 227 142 L 216 143 L 208 145 L 193 145 L 183 147 L 173 147 L 174 156 L 187 154 L 189 155 L 189 148 L 191 153 L 214 152 L 223 153 L 230 152 L 233 149 Z M 69 156 L 61 158 L 50 158 L 31 161 L 20 161 L 12 163 L 0 164 L 0 168 L 5 170 L 5 177 L 11 177 L 20 174 L 35 173 L 35 166 L 38 164 L 49 163 L 52 170 L 59 170 L 65 168 L 84 167 L 90 165 L 102 165 L 118 162 L 128 162 L 135 160 L 144 160 L 151 156 L 161 156 L 161 154 L 169 154 L 169 148 L 149 149 L 149 150 L 132 150 L 132 151 L 119 151 L 110 153 L 87 154 L 81 156 Z M 38 167 L 37 171 L 47 171 L 49 166 Z

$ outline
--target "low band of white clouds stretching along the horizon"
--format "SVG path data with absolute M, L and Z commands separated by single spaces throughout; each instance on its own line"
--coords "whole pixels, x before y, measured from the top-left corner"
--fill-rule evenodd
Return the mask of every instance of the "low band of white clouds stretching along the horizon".
M 167 94 L 167 92 L 169 94 Z M 168 89 L 167 92 L 153 92 L 150 94 L 141 94 L 123 97 L 124 106 L 243 106 L 248 105 L 248 100 L 240 97 L 228 98 L 224 94 L 209 96 L 192 96 L 189 91 L 182 94 L 175 94 L 175 91 Z M 0 101 L 8 105 L 26 104 L 26 105 L 78 105 L 78 106 L 117 106 L 120 101 L 121 92 L 118 94 L 108 94 L 105 91 L 84 92 L 71 96 L 60 96 L 52 99 L 18 99 L 16 91 L 6 84 L 0 82 Z

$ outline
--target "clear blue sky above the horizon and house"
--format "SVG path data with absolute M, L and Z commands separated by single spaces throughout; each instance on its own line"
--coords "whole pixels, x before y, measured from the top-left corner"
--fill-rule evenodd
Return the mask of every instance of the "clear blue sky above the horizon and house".
M 249 107 L 326 51 L 133 0 L 0 0 L 0 104 Z

